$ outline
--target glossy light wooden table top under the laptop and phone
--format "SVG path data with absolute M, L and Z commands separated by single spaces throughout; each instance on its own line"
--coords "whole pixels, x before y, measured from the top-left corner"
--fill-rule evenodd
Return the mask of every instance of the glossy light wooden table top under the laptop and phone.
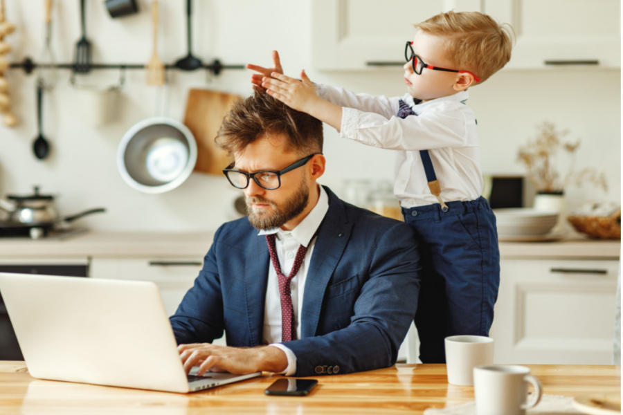
M 543 393 L 579 396 L 621 390 L 616 366 L 527 365 Z M 0 414 L 423 414 L 473 400 L 473 387 L 448 385 L 445 365 L 395 365 L 318 376 L 305 397 L 266 396 L 280 376 L 266 374 L 193 394 L 32 378 L 24 362 L 0 362 Z

